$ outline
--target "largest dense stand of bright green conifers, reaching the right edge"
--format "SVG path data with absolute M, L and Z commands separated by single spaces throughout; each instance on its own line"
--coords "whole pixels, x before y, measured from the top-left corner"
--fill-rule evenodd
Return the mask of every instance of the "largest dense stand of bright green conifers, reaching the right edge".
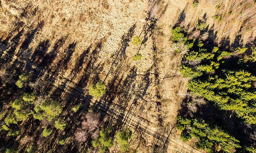
M 242 54 L 247 48 L 238 47 L 230 52 L 220 51 L 218 47 L 207 50 L 201 42 L 196 48 L 197 51 L 185 55 L 180 70 L 183 76 L 191 79 L 189 90 L 202 95 L 219 109 L 234 111 L 245 122 L 256 124 L 253 86 L 256 77 L 242 68 L 241 60 L 231 68 L 225 62 L 227 57 Z

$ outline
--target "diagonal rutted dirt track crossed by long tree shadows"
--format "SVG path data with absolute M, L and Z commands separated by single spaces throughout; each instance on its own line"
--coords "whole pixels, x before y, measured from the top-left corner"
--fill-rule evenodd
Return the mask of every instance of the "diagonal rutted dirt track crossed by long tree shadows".
M 0 51 L 1 51 L 0 58 L 1 59 L 10 61 L 10 63 L 12 65 L 15 65 L 22 71 L 31 71 L 31 70 L 29 70 L 30 68 L 33 68 L 33 71 L 37 72 L 37 73 L 39 73 L 41 71 L 40 67 L 33 66 L 28 61 L 18 58 L 16 55 L 8 54 L 6 49 L 7 48 L 5 46 L 0 45 Z M 30 66 L 30 67 L 28 67 L 28 66 Z M 94 99 L 94 98 L 90 97 L 90 95 L 88 95 L 88 94 L 85 95 L 83 92 L 81 92 L 80 89 L 74 88 L 74 87 L 77 87 L 76 83 L 72 82 L 68 78 L 63 78 L 67 82 L 65 84 L 66 86 L 59 84 L 59 82 L 61 82 L 61 80 L 59 80 L 59 79 L 56 79 L 54 82 L 50 78 L 47 78 L 46 76 L 42 76 L 41 79 L 46 84 L 50 84 L 59 89 L 62 89 L 64 91 L 63 94 L 64 93 L 74 94 L 77 97 L 80 97 L 84 103 L 90 103 L 90 106 L 95 107 L 95 108 L 105 112 L 108 115 L 108 117 L 112 117 L 113 119 L 116 119 L 116 120 L 118 120 L 120 118 L 122 118 L 123 120 L 126 120 L 126 122 L 124 123 L 125 126 L 132 127 L 133 129 L 137 130 L 137 132 L 138 131 L 143 132 L 144 133 L 143 137 L 147 137 L 147 135 L 151 135 L 158 140 L 158 141 L 156 141 L 156 143 L 157 142 L 165 143 L 165 141 L 167 139 L 168 133 L 164 133 L 161 129 L 150 128 L 149 125 L 143 124 L 142 119 L 139 119 L 139 118 L 135 117 L 134 115 L 128 115 L 129 112 L 127 112 L 127 114 L 113 113 L 113 112 L 115 112 L 115 109 L 120 109 L 121 106 L 116 105 L 114 101 L 112 101 L 112 102 L 109 101 L 108 103 L 110 103 L 110 105 L 106 105 L 106 103 L 103 103 L 100 99 Z M 82 87 L 80 87 L 80 88 L 82 88 Z M 188 145 L 184 145 L 184 144 L 180 143 L 179 141 L 174 140 L 172 138 L 168 138 L 167 141 L 169 142 L 169 145 L 172 145 L 173 148 L 175 148 L 175 150 L 177 150 L 177 152 L 199 153 L 198 150 L 195 150 Z M 153 150 L 152 150 L 152 152 L 153 152 Z

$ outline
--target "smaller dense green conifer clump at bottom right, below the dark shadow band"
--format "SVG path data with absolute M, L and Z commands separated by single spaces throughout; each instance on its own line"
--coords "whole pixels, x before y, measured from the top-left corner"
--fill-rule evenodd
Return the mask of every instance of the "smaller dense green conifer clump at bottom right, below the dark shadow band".
M 178 116 L 177 128 L 183 130 L 181 133 L 182 140 L 188 141 L 192 136 L 196 137 L 199 140 L 196 142 L 196 147 L 207 152 L 230 152 L 231 149 L 241 148 L 236 138 L 218 126 L 211 127 L 199 119 Z

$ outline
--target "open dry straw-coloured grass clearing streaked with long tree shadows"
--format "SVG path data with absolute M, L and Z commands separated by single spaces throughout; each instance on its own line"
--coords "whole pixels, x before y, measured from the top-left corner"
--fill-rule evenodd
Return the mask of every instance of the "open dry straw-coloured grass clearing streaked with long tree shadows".
M 42 93 L 89 102 L 109 125 L 130 127 L 139 152 L 199 152 L 175 128 L 188 80 L 178 71 L 184 54 L 171 50 L 170 31 L 181 18 L 195 27 L 206 12 L 208 27 L 216 24 L 211 3 L 193 9 L 192 1 L 160 0 L 155 20 L 147 20 L 148 0 L 0 2 L 1 59 L 44 80 Z M 138 47 L 131 43 L 136 35 L 143 41 Z M 142 60 L 132 61 L 138 52 Z M 92 99 L 88 87 L 98 80 L 107 93 Z

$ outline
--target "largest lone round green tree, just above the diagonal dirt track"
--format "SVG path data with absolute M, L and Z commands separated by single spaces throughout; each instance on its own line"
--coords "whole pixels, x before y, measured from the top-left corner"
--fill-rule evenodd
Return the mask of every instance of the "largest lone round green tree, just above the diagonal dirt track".
M 89 86 L 88 94 L 93 97 L 99 98 L 105 93 L 106 93 L 106 85 L 101 81 L 97 82 L 96 85 Z

